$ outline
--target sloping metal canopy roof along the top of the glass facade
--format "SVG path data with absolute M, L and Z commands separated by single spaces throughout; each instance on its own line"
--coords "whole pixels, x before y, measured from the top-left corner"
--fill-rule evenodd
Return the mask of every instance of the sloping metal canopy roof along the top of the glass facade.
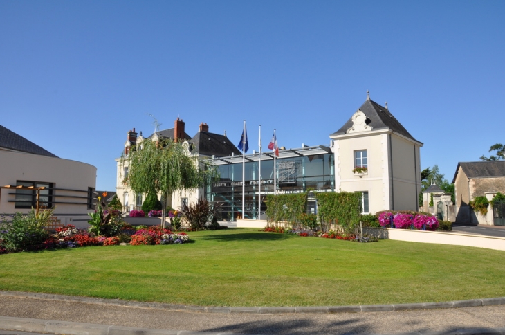
M 300 147 L 297 149 L 284 149 L 284 150 L 279 150 L 279 156 L 277 159 L 287 159 L 291 157 L 301 157 L 301 156 L 313 156 L 313 155 L 318 155 L 318 154 L 330 154 L 331 149 L 329 147 L 326 147 L 324 145 L 315 145 L 313 147 Z M 246 162 L 255 162 L 259 161 L 261 158 L 261 161 L 270 161 L 273 159 L 273 152 L 255 152 L 253 154 L 246 154 Z M 226 156 L 226 157 L 212 157 L 210 161 L 214 165 L 225 165 L 225 164 L 235 164 L 235 163 L 242 163 L 243 155 L 237 155 L 237 156 Z

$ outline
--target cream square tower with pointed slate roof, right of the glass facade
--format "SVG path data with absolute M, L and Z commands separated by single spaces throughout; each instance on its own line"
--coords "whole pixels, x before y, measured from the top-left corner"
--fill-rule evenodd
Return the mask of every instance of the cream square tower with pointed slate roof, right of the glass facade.
M 364 213 L 418 210 L 420 148 L 391 111 L 370 99 L 354 112 L 334 141 L 335 190 L 360 192 Z

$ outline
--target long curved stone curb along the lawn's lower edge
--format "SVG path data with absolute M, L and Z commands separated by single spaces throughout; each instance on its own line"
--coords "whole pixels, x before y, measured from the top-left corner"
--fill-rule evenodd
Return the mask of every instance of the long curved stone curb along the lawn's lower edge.
M 161 302 L 140 302 L 120 299 L 87 298 L 80 296 L 62 296 L 58 294 L 29 293 L 17 291 L 0 291 L 0 296 L 14 296 L 20 298 L 33 298 L 44 300 L 57 300 L 66 302 L 83 302 L 86 304 L 116 305 L 129 307 L 144 307 L 169 309 L 172 311 L 192 311 L 199 313 L 222 314 L 300 314 L 300 313 L 366 313 L 372 311 L 407 311 L 413 309 L 446 309 L 462 307 L 480 307 L 492 305 L 505 305 L 505 297 L 471 299 L 448 302 L 421 302 L 414 304 L 392 305 L 356 305 L 356 306 L 314 306 L 314 307 L 201 307 L 190 305 L 165 304 Z

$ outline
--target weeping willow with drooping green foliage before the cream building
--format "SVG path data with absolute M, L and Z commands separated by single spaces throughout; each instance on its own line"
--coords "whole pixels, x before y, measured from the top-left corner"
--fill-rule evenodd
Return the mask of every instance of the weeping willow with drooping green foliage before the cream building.
M 131 190 L 163 194 L 163 227 L 167 197 L 176 191 L 199 188 L 215 174 L 214 167 L 192 156 L 187 145 L 164 139 L 143 141 L 128 156 L 123 155 L 121 163 L 128 166 L 128 177 L 124 182 Z

